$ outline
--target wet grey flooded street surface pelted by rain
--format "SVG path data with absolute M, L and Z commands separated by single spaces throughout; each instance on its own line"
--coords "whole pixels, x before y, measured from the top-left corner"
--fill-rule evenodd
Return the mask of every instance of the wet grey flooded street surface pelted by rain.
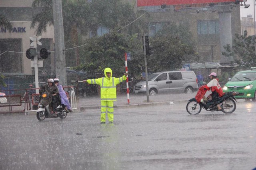
M 237 104 L 230 115 L 189 115 L 185 107 L 115 109 L 113 124 L 100 124 L 98 109 L 43 122 L 36 115 L 1 115 L 0 164 L 2 169 L 255 168 L 253 102 Z

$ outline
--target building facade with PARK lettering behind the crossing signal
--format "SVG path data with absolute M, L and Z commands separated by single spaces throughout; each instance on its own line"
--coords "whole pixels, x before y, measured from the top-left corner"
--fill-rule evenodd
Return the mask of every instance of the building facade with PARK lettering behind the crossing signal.
M 30 28 L 32 16 L 42 10 L 41 8 L 32 8 L 33 1 L 0 0 L 1 14 L 13 25 L 13 29 L 10 31 L 0 27 L 0 72 L 6 76 L 33 74 L 33 64 L 30 59 L 27 59 L 26 50 L 30 48 L 32 42 L 30 37 L 36 35 L 36 30 Z M 53 25 L 47 27 L 46 33 L 42 33 L 42 38 L 39 41 L 42 46 L 37 45 L 38 52 L 42 48 L 53 51 Z M 38 72 L 52 68 L 54 68 L 53 55 L 43 60 L 43 67 L 39 67 Z

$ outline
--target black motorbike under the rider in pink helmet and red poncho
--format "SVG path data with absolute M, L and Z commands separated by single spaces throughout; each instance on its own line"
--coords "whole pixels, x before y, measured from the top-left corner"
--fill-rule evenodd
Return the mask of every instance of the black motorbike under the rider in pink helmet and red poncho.
M 222 108 L 220 111 L 223 113 L 233 113 L 236 110 L 236 99 L 234 98 L 235 95 L 237 95 L 236 92 L 227 92 L 219 98 L 218 104 L 220 104 L 220 107 Z M 202 108 L 204 108 L 206 111 L 218 111 L 216 102 L 197 102 L 196 98 L 188 100 L 186 110 L 190 115 L 199 114 Z

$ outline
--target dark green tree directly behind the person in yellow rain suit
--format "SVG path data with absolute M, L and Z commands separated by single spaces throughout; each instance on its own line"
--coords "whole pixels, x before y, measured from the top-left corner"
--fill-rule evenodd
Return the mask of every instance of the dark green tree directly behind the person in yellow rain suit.
M 128 61 L 129 70 L 138 72 L 138 63 L 142 60 L 142 52 L 138 45 L 137 34 L 128 35 L 111 31 L 101 37 L 94 37 L 87 40 L 84 47 L 83 64 L 75 67 L 76 70 L 83 70 L 90 73 L 102 72 L 104 68 L 110 67 L 114 75 L 125 72 L 125 52 L 130 52 L 136 56 L 132 61 Z

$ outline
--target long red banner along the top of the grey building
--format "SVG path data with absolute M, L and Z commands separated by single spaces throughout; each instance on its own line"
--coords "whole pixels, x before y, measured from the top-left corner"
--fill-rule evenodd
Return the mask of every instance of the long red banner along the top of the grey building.
M 182 4 L 207 4 L 218 2 L 235 2 L 236 0 L 137 0 L 137 6 L 160 6 L 166 5 L 182 5 Z M 243 0 L 240 0 L 243 2 Z

